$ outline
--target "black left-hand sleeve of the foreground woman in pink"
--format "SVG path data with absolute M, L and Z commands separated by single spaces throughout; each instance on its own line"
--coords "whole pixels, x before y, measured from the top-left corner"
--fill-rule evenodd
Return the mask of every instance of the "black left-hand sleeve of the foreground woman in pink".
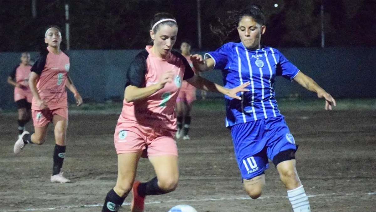
M 149 53 L 146 50 L 141 51 L 133 59 L 126 72 L 125 87 L 129 85 L 141 88 L 145 84 L 146 59 Z

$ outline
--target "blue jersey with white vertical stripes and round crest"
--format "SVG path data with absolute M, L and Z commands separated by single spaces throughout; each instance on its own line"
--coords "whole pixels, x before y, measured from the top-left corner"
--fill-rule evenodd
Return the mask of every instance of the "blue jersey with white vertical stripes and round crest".
M 204 58 L 213 58 L 214 69 L 221 69 L 223 86 L 235 88 L 250 81 L 242 100 L 225 96 L 226 127 L 280 115 L 274 92 L 276 76 L 293 80 L 299 69 L 277 49 L 264 46 L 249 50 L 243 43 L 226 43 Z

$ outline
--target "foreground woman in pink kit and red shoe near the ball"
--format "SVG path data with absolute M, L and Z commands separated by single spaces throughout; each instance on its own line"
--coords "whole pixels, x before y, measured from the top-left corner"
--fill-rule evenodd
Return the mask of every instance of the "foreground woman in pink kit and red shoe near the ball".
M 177 37 L 177 23 L 168 13 L 154 15 L 150 24 L 152 46 L 146 46 L 133 59 L 124 76 L 123 109 L 114 134 L 118 157 L 116 185 L 105 199 L 102 212 L 118 211 L 132 190 L 132 212 L 144 210 L 146 195 L 175 190 L 179 178 L 177 165 L 176 98 L 182 81 L 196 88 L 220 92 L 232 98 L 250 83 L 233 89 L 195 75 L 185 57 L 171 51 Z M 140 157 L 148 157 L 156 177 L 146 183 L 135 181 Z

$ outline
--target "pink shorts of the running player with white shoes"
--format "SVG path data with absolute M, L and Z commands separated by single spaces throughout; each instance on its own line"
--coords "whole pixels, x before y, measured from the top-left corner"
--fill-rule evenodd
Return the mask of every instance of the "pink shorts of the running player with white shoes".
M 35 127 L 42 127 L 52 122 L 53 115 L 59 115 L 68 120 L 68 108 L 56 108 L 53 110 L 31 110 Z

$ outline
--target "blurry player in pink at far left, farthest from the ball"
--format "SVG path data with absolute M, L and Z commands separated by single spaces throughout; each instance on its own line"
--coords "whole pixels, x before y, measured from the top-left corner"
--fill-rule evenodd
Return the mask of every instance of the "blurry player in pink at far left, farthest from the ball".
M 30 69 L 30 54 L 23 52 L 20 65 L 16 66 L 8 77 L 8 83 L 14 86 L 14 101 L 18 108 L 18 138 L 31 118 L 33 94 L 29 89 Z

